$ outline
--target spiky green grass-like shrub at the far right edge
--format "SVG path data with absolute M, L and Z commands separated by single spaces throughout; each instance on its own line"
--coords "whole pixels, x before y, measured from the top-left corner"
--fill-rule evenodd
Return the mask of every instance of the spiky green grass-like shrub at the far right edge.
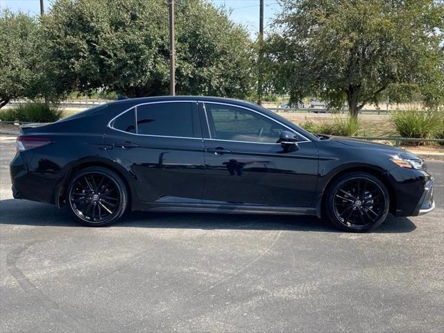
M 434 137 L 443 127 L 443 117 L 437 111 L 396 111 L 391 116 L 391 122 L 401 137 L 418 139 Z

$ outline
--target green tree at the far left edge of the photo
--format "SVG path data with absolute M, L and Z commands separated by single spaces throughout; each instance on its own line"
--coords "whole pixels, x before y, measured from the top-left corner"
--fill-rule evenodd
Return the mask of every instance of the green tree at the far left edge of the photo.
M 35 78 L 35 19 L 10 10 L 0 13 L 0 108 L 28 96 Z

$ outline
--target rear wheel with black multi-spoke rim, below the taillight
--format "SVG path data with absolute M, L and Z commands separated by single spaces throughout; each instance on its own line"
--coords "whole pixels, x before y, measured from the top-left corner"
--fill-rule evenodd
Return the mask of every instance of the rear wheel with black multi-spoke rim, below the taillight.
M 121 218 L 128 206 L 128 191 L 119 175 L 103 167 L 88 167 L 74 174 L 67 188 L 67 207 L 74 220 L 99 227 Z

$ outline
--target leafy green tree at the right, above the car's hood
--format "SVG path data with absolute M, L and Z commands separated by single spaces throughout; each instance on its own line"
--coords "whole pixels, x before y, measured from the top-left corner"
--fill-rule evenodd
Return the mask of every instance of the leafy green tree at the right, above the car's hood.
M 394 98 L 420 91 L 426 103 L 444 100 L 442 1 L 284 0 L 274 25 L 268 82 L 291 101 L 347 101 L 357 117 L 387 89 Z

